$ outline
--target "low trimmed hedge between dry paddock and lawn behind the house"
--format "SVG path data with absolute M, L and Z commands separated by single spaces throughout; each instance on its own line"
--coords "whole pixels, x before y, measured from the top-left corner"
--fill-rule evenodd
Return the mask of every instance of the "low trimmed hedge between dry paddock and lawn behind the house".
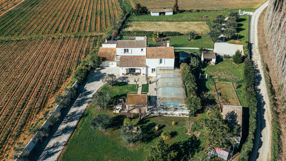
M 122 36 L 152 36 L 153 31 L 121 31 Z M 164 31 L 159 34 L 162 37 L 166 36 L 180 36 L 180 32 Z

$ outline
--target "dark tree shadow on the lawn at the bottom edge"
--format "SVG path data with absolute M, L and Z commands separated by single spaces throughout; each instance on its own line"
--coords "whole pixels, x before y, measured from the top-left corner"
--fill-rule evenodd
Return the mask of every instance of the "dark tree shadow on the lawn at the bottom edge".
M 196 136 L 172 144 L 171 149 L 179 152 L 179 155 L 176 156 L 175 160 L 186 160 L 187 157 L 193 157 L 194 154 L 203 150 L 200 146 L 200 140 L 198 140 Z

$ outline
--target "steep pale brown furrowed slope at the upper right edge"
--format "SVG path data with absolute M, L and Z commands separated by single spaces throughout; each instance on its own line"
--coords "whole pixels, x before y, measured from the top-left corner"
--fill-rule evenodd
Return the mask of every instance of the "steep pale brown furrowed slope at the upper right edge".
M 265 14 L 265 36 L 270 49 L 271 61 L 277 71 L 279 84 L 286 96 L 286 0 L 269 0 Z

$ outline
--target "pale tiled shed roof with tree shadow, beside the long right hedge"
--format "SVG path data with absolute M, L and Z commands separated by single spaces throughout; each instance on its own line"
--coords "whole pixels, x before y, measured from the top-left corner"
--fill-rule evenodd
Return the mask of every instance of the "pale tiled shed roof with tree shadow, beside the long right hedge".
M 223 119 L 227 119 L 231 124 L 242 127 L 242 106 L 223 105 Z M 240 130 L 241 133 L 241 130 Z

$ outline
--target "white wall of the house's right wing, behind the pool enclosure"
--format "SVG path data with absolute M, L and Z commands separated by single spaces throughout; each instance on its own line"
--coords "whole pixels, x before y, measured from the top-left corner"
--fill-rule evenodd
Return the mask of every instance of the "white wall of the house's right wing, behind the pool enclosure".
M 162 59 L 162 64 L 159 64 L 159 59 L 146 59 L 147 75 L 156 76 L 156 72 L 152 73 L 152 68 L 157 67 L 174 67 L 175 59 Z

